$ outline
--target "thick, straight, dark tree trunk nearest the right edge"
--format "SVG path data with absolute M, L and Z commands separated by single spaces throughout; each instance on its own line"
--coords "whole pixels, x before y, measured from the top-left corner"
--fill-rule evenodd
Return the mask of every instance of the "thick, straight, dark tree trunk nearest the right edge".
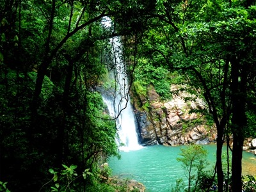
M 243 66 L 239 70 L 241 63 L 236 59 L 232 61 L 232 85 L 231 85 L 231 102 L 232 102 L 232 192 L 242 191 L 242 157 L 243 157 L 243 128 L 246 125 L 246 70 Z

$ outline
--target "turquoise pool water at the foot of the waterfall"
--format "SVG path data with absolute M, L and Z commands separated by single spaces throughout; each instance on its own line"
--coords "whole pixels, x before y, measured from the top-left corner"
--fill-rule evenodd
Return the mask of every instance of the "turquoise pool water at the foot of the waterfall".
M 176 158 L 180 153 L 180 148 L 154 145 L 130 152 L 120 152 L 121 159 L 109 159 L 109 166 L 113 170 L 113 175 L 134 179 L 142 182 L 147 188 L 147 192 L 167 192 L 175 186 L 175 181 L 179 178 L 186 180 L 184 170 Z M 216 145 L 204 145 L 208 151 L 209 168 L 213 168 L 216 159 Z M 253 154 L 245 153 L 243 166 L 248 165 L 248 173 L 256 173 L 256 160 Z M 211 169 L 212 170 L 212 169 Z

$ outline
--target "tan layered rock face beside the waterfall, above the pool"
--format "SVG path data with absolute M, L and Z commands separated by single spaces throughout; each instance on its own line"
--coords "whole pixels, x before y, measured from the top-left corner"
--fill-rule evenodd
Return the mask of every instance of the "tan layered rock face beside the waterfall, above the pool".
M 171 90 L 175 91 L 177 87 L 172 86 Z M 188 97 L 193 100 L 185 102 Z M 208 144 L 216 140 L 215 127 L 205 125 L 202 115 L 189 113 L 191 109 L 205 109 L 202 100 L 179 92 L 172 100 L 161 102 L 152 85 L 147 88 L 147 99 L 139 95 L 137 98 L 134 108 L 142 145 Z M 147 110 L 141 110 L 143 105 Z

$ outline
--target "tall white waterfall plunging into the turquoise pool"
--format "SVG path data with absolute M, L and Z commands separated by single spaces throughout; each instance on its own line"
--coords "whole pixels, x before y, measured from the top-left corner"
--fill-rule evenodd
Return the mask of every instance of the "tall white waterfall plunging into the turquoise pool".
M 111 20 L 107 17 L 103 22 L 105 27 L 111 26 Z M 109 115 L 116 118 L 117 136 L 116 142 L 120 145 L 120 150 L 138 150 L 142 146 L 138 143 L 138 134 L 136 132 L 135 117 L 132 110 L 129 97 L 129 83 L 124 61 L 122 61 L 122 49 L 120 37 L 116 36 L 110 39 L 113 62 L 113 76 L 115 78 L 115 89 L 113 93 L 102 95 L 102 98 L 108 106 Z

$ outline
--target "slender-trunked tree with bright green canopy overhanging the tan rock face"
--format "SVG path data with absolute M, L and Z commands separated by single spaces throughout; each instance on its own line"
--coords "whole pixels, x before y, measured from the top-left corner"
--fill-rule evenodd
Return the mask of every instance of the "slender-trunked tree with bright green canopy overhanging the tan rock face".
M 228 63 L 222 60 L 220 44 L 209 35 L 210 26 L 204 22 L 204 19 L 209 20 L 207 15 L 219 10 L 216 4 L 208 5 L 205 1 L 159 1 L 156 13 L 152 14 L 154 19 L 148 33 L 150 41 L 145 44 L 144 50 L 151 56 L 150 61 L 156 63 L 154 65 L 161 63 L 171 71 L 186 74 L 189 78 L 183 84 L 193 87 L 187 90 L 207 102 L 218 131 L 216 168 L 221 190 L 223 137 L 230 115 L 227 97 L 230 69 Z

